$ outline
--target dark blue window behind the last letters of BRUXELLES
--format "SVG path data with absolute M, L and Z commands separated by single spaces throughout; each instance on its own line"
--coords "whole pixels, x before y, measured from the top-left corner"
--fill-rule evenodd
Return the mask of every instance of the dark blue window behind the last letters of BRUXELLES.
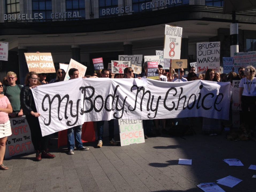
M 35 13 L 40 14 L 43 17 L 40 20 L 33 20 L 34 22 L 51 21 L 52 0 L 32 0 L 32 13 L 33 15 Z

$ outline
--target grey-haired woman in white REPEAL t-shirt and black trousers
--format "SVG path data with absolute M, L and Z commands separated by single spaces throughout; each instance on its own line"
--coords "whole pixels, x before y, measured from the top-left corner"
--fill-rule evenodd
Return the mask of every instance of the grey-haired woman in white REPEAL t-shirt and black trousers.
M 239 104 L 242 107 L 243 122 L 251 129 L 251 136 L 254 137 L 256 117 L 256 78 L 255 68 L 248 66 L 244 70 L 244 77 L 239 84 Z M 249 111 L 250 109 L 250 111 Z

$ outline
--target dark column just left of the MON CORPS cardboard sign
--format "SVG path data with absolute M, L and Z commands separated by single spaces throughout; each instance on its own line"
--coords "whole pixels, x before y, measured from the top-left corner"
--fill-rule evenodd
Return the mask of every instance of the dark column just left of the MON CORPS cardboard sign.
M 24 80 L 26 77 L 26 74 L 28 73 L 28 65 L 25 59 L 24 53 L 26 53 L 27 47 L 18 46 L 18 55 L 19 55 L 19 70 L 20 70 L 20 84 L 24 84 Z

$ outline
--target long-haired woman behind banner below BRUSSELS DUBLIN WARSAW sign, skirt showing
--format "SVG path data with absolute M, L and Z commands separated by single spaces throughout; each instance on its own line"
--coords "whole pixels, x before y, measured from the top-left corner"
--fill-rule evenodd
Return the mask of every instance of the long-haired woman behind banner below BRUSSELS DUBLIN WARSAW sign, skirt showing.
M 205 73 L 204 80 L 218 82 L 215 71 L 208 69 Z M 220 119 L 212 119 L 203 117 L 202 133 L 209 134 L 209 136 L 215 136 L 221 133 L 221 121 Z

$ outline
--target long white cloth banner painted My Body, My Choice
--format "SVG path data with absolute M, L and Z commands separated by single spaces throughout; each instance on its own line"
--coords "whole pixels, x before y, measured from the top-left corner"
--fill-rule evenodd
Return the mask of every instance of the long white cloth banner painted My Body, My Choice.
M 42 135 L 88 121 L 229 117 L 229 82 L 174 83 L 147 79 L 148 84 L 138 88 L 133 81 L 78 78 L 33 88 Z

